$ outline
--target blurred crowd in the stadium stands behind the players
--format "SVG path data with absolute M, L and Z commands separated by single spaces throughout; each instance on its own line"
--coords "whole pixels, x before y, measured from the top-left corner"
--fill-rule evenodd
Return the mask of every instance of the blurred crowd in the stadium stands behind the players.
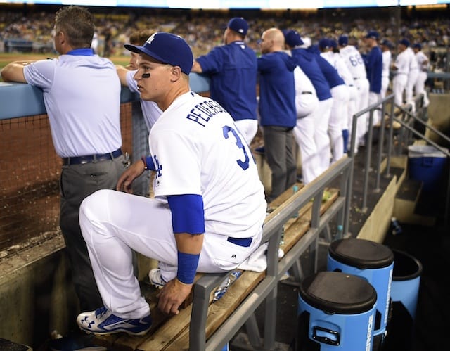
M 95 13 L 96 36 L 93 47 L 101 56 L 120 56 L 129 53 L 123 44 L 129 42 L 129 34 L 137 29 L 174 32 L 184 37 L 191 45 L 194 55 L 200 56 L 221 44 L 222 34 L 229 13 L 207 11 L 161 11 L 155 9 L 152 15 L 140 11 L 128 13 Z M 395 43 L 399 38 L 421 44 L 430 57 L 430 70 L 442 71 L 448 67 L 447 56 L 450 44 L 450 18 L 445 16 L 427 19 L 401 19 L 376 14 L 370 16 L 342 17 L 337 15 L 285 15 L 269 11 L 242 14 L 250 25 L 247 42 L 259 50 L 257 40 L 263 30 L 269 27 L 290 28 L 300 32 L 302 37 L 311 38 L 312 44 L 323 37 L 339 37 L 347 34 L 352 44 L 362 45 L 362 38 L 369 30 L 376 30 L 382 39 Z M 8 39 L 25 39 L 33 42 L 33 51 L 46 52 L 53 49 L 51 33 L 53 12 L 33 12 L 24 16 L 22 11 L 0 10 L 0 52 L 8 51 Z M 397 33 L 398 30 L 398 33 Z M 11 51 L 11 49 L 9 50 Z M 394 47 L 392 53 L 397 49 Z

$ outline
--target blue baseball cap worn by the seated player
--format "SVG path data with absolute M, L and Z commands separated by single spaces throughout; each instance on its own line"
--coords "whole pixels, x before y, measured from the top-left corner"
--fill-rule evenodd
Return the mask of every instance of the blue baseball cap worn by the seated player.
M 167 32 L 153 33 L 143 46 L 125 44 L 124 48 L 134 53 L 144 53 L 162 63 L 179 66 L 188 75 L 194 62 L 191 47 L 179 35 Z

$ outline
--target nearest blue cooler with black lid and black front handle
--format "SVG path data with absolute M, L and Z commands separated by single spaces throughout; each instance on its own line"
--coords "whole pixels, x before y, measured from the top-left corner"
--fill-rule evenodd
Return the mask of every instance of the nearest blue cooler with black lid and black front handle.
M 377 293 L 365 279 L 319 272 L 300 284 L 297 351 L 371 351 Z

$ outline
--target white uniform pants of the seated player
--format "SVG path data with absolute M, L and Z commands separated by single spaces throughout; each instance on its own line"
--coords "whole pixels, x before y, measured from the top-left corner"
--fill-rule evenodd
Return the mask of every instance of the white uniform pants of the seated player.
M 178 257 L 169 205 L 144 196 L 100 190 L 82 202 L 79 224 L 105 307 L 122 318 L 148 315 L 150 307 L 134 275 L 133 250 L 162 262 L 162 278 L 174 279 Z M 259 246 L 261 236 L 262 229 L 245 248 L 227 241 L 227 236 L 205 233 L 198 272 L 235 269 L 240 262 L 233 262 L 231 253 L 248 257 Z

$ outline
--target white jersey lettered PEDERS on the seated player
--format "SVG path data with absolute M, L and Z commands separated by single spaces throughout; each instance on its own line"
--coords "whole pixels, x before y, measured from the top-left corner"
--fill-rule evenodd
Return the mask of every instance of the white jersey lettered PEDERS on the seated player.
M 190 91 L 176 98 L 148 137 L 155 197 L 203 197 L 205 231 L 256 233 L 266 217 L 264 186 L 250 147 L 219 103 Z

